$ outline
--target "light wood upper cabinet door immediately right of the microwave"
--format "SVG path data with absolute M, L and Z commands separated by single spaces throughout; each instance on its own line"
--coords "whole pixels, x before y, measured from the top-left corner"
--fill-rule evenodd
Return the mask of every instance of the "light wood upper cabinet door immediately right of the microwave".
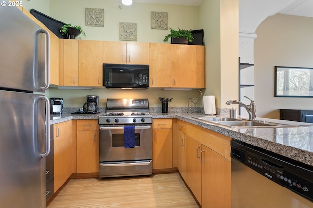
M 171 87 L 171 44 L 149 43 L 149 87 Z

